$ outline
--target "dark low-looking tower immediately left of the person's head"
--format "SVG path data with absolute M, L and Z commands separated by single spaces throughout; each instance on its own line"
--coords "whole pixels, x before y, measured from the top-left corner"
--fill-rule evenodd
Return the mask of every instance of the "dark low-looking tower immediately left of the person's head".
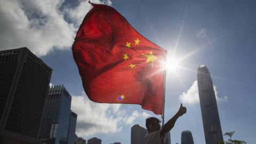
M 147 129 L 139 124 L 131 127 L 131 144 L 144 144 Z

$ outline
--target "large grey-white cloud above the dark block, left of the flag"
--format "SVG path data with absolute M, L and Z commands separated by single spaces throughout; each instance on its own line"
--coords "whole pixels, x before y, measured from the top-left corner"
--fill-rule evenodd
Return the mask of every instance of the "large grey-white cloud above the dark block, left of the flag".
M 63 0 L 0 1 L 0 49 L 25 46 L 36 55 L 42 56 L 53 47 L 61 50 L 70 48 L 79 23 L 91 9 L 91 5 L 88 1 L 80 1 L 77 7 L 60 11 L 64 2 Z M 95 1 L 95 3 L 111 4 L 109 0 Z M 66 12 L 71 22 L 64 19 Z

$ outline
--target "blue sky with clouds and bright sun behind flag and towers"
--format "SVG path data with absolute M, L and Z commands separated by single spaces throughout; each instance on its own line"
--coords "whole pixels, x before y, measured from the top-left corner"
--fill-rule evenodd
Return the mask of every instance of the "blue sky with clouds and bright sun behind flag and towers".
M 180 143 L 190 130 L 195 143 L 205 143 L 198 101 L 196 70 L 205 64 L 212 75 L 222 133 L 253 143 L 256 133 L 256 53 L 254 1 L 92 1 L 113 6 L 140 34 L 178 60 L 166 79 L 165 119 L 180 103 L 187 114 L 171 131 Z M 83 92 L 71 53 L 76 31 L 91 9 L 87 1 L 0 1 L 0 47 L 26 46 L 53 69 L 51 83 L 63 84 L 73 95 L 77 134 L 99 137 L 102 143 L 130 143 L 130 127 L 145 126 L 151 111 L 138 105 L 91 102 Z M 205 35 L 197 36 L 204 29 Z M 185 57 L 187 56 L 187 57 Z M 159 117 L 159 116 L 158 116 Z M 100 119 L 100 121 L 99 121 Z M 226 137 L 224 137 L 226 139 Z M 227 139 L 226 139 L 227 140 Z

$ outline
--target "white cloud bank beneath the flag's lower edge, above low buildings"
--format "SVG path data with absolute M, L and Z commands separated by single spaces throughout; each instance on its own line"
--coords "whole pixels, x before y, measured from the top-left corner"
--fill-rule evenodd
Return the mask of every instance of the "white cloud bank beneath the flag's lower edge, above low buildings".
M 146 112 L 128 113 L 121 104 L 95 103 L 85 93 L 72 96 L 71 110 L 77 113 L 76 133 L 78 137 L 89 137 L 95 133 L 111 133 L 122 130 L 121 125 L 134 124 L 139 117 L 149 116 Z

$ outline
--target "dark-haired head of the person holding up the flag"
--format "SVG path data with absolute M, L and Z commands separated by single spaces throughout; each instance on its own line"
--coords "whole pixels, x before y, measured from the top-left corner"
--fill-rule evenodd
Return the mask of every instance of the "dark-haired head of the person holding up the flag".
M 158 118 L 155 117 L 149 117 L 146 119 L 146 127 L 148 129 L 148 132 L 155 132 L 160 130 L 161 126 L 160 123 L 161 121 Z

